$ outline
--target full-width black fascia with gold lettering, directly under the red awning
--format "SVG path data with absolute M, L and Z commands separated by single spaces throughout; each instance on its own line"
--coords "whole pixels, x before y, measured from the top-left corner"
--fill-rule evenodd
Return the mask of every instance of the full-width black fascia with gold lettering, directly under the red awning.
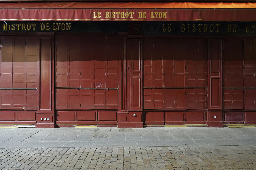
M 2 21 L 0 33 L 72 32 L 143 35 L 256 36 L 256 22 Z

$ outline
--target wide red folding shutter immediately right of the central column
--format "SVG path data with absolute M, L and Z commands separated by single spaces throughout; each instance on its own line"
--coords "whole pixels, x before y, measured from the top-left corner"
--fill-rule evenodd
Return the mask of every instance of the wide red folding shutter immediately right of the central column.
M 185 109 L 186 39 L 145 39 L 144 109 Z M 152 87 L 150 89 L 150 87 Z

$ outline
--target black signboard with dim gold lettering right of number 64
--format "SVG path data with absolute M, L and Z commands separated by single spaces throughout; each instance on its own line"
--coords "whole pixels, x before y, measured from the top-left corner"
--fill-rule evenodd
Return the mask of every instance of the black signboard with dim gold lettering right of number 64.
M 143 22 L 143 34 L 256 36 L 256 22 Z

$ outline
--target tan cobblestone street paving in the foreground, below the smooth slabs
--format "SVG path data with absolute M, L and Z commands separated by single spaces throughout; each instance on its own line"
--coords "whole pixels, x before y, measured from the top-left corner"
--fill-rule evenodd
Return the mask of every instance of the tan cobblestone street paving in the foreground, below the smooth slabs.
M 256 169 L 255 146 L 76 147 L 0 150 L 0 169 Z

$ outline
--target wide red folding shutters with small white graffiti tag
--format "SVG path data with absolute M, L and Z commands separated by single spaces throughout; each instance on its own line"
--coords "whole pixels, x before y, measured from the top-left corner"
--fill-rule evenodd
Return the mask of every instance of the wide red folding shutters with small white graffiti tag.
M 56 42 L 56 108 L 118 109 L 118 90 L 101 89 L 118 88 L 118 36 L 57 36 Z

